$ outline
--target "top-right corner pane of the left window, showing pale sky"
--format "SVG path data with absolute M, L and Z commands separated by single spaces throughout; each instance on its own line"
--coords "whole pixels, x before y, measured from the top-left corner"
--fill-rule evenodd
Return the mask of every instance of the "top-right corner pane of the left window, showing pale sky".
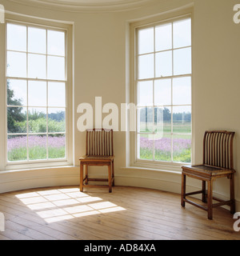
M 47 30 L 47 54 L 65 56 L 65 33 Z

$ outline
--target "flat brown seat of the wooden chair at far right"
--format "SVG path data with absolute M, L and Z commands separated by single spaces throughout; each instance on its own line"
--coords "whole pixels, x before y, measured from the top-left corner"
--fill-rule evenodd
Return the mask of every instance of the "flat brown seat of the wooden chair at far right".
M 198 174 L 209 177 L 218 177 L 219 175 L 226 176 L 227 174 L 234 174 L 236 171 L 231 169 L 226 169 L 217 166 L 209 166 L 209 165 L 194 165 L 194 166 L 182 166 L 183 172 L 186 174 Z

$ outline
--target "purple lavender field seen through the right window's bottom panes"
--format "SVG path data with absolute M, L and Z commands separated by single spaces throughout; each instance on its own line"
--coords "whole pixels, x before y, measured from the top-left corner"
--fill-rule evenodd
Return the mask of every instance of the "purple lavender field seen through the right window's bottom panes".
M 140 159 L 171 161 L 171 138 L 140 138 Z M 173 161 L 190 162 L 191 161 L 191 139 L 190 138 L 173 138 Z M 154 150 L 154 154 L 153 154 Z

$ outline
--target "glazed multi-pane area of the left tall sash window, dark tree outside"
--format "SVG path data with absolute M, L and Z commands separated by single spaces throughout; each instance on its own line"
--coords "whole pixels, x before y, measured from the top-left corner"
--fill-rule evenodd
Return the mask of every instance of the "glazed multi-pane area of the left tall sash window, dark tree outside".
M 7 161 L 66 158 L 66 31 L 6 23 Z

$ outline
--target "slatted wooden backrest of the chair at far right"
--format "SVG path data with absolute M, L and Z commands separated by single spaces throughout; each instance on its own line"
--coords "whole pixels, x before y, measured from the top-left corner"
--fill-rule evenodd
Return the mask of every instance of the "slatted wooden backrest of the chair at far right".
M 234 134 L 226 130 L 206 131 L 203 139 L 203 164 L 233 170 Z

